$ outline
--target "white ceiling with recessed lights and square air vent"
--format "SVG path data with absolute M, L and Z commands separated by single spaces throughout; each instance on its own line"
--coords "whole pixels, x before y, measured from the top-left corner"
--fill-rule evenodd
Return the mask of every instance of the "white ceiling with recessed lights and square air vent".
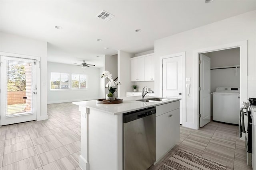
M 48 42 L 48 61 L 102 66 L 117 50 L 140 53 L 154 41 L 245 12 L 256 0 L 0 0 L 0 31 Z M 115 17 L 106 22 L 101 11 Z M 56 29 L 60 25 L 63 29 Z M 142 29 L 136 33 L 135 29 Z M 102 42 L 96 41 L 102 39 Z M 108 47 L 108 50 L 104 50 Z

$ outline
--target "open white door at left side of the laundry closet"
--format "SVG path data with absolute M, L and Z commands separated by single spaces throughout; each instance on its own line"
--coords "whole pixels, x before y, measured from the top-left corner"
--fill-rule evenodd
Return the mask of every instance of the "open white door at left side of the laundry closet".
M 211 59 L 200 54 L 200 127 L 211 121 Z

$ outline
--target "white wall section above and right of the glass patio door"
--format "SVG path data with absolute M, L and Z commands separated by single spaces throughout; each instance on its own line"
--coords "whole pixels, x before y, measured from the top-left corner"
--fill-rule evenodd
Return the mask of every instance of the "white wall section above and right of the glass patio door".
M 40 57 L 40 116 L 36 119 L 47 119 L 47 42 L 0 32 L 0 53 L 2 52 Z M 14 55 L 10 54 L 10 56 Z

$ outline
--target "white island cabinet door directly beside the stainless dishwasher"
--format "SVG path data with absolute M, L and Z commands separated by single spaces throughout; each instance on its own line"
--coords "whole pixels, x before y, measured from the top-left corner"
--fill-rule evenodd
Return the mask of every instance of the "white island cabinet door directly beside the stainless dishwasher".
M 170 149 L 170 112 L 156 117 L 156 161 Z

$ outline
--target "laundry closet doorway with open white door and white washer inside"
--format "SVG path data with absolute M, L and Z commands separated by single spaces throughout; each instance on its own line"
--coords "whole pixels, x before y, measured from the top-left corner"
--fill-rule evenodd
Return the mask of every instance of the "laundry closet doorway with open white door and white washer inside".
M 200 127 L 211 120 L 238 124 L 240 48 L 200 53 L 199 70 Z M 234 121 L 228 117 L 234 117 Z

